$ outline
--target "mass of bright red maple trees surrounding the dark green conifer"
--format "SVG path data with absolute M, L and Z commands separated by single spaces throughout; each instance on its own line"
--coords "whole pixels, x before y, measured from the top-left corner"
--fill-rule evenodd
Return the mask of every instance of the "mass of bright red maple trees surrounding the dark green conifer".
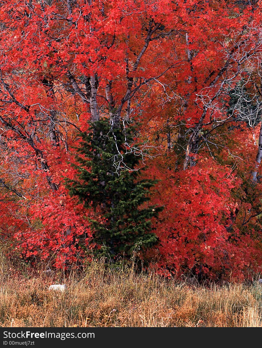
M 163 274 L 261 269 L 260 0 L 3 0 L 3 238 L 69 267 L 92 247 L 94 209 L 70 197 L 90 122 L 135 125 L 149 150 Z M 103 219 L 103 214 L 99 216 Z

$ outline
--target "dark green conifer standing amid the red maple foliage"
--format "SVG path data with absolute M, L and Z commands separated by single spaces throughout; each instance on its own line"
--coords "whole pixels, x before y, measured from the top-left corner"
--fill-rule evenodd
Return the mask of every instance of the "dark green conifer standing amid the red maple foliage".
M 139 144 L 128 147 L 134 132 L 134 126 L 112 127 L 108 119 L 92 122 L 76 148 L 77 177 L 66 179 L 70 195 L 97 213 L 97 219 L 88 218 L 93 241 L 102 247 L 96 253 L 106 252 L 113 262 L 130 258 L 136 246 L 145 251 L 157 243 L 150 219 L 162 208 L 143 205 L 156 181 L 140 179 L 142 155 L 134 150 Z

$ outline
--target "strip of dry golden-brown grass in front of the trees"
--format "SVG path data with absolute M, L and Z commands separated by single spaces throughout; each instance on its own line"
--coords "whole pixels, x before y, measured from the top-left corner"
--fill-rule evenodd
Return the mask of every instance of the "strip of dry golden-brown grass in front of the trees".
M 13 268 L 12 268 L 13 267 Z M 81 275 L 20 272 L 0 260 L 0 326 L 3 327 L 261 327 L 262 286 L 190 285 L 134 267 L 94 263 Z M 66 283 L 65 293 L 48 286 Z

